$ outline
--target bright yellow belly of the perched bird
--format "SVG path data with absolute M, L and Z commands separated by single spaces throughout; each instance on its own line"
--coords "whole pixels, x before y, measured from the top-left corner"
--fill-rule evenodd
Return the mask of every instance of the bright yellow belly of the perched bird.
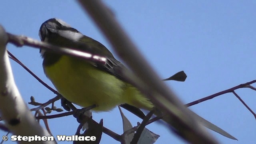
M 96 104 L 94 110 L 108 111 L 126 103 L 122 98 L 126 83 L 81 60 L 62 56 L 44 72 L 64 98 L 79 106 Z

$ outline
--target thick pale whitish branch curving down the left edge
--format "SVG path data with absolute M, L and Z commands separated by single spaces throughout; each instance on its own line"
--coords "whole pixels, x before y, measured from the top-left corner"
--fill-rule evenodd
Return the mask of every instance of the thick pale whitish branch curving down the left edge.
M 22 100 L 20 92 L 14 82 L 12 69 L 8 58 L 6 44 L 8 35 L 0 26 L 0 113 L 8 129 L 15 135 L 21 136 L 50 136 L 38 124 L 34 116 Z M 21 143 L 26 143 L 23 141 Z M 35 141 L 32 143 L 36 143 Z M 53 144 L 55 142 L 41 142 Z

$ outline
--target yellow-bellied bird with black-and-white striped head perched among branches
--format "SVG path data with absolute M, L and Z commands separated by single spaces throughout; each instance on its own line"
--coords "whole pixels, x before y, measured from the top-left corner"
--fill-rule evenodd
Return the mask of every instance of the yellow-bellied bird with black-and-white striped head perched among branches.
M 127 68 L 100 42 L 85 36 L 58 18 L 43 22 L 39 36 L 43 42 L 89 54 L 90 58 L 81 60 L 74 56 L 40 50 L 44 73 L 66 100 L 82 107 L 95 105 L 92 109 L 95 112 L 110 111 L 121 104 L 149 111 L 155 108 L 150 99 L 120 73 L 120 70 Z M 207 128 L 234 138 L 193 114 Z

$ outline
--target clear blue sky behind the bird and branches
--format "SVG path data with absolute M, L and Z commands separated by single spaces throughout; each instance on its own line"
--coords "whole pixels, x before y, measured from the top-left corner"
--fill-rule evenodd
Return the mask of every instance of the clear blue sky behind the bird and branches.
M 181 70 L 186 72 L 186 82 L 166 82 L 184 104 L 256 79 L 256 2 L 104 2 L 161 78 L 167 78 Z M 49 18 L 60 18 L 112 51 L 108 41 L 75 1 L 6 0 L 1 3 L 0 9 L 0 24 L 12 34 L 39 40 L 38 30 L 42 22 Z M 8 50 L 52 86 L 42 70 L 42 58 L 38 49 L 16 48 L 8 44 Z M 13 61 L 11 64 L 16 84 L 26 102 L 30 101 L 30 96 L 34 96 L 38 102 L 46 102 L 55 96 L 21 66 Z M 256 110 L 255 91 L 243 88 L 236 92 L 252 110 Z M 59 106 L 59 102 L 56 105 Z M 211 132 L 222 143 L 252 143 L 256 137 L 255 118 L 231 93 L 190 109 L 238 139 L 230 140 Z M 140 121 L 129 112 L 125 114 L 133 125 Z M 118 109 L 94 113 L 93 118 L 98 122 L 103 118 L 104 126 L 122 134 L 122 120 Z M 72 135 L 78 126 L 72 116 L 48 122 L 55 136 Z M 160 124 L 150 124 L 147 128 L 160 135 L 156 144 L 184 143 Z M 101 143 L 118 142 L 103 135 Z

